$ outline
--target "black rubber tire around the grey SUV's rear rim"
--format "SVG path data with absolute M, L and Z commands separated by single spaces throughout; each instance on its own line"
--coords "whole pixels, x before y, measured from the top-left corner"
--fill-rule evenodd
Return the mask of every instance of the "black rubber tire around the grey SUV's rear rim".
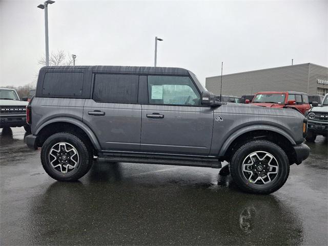
M 58 181 L 75 181 L 83 177 L 90 170 L 92 166 L 93 151 L 87 141 L 81 139 L 83 138 L 67 132 L 59 132 L 47 138 L 41 149 L 41 163 L 50 177 Z M 72 145 L 78 153 L 79 159 L 77 166 L 71 172 L 58 172 L 50 164 L 49 151 L 58 142 L 67 142 Z

